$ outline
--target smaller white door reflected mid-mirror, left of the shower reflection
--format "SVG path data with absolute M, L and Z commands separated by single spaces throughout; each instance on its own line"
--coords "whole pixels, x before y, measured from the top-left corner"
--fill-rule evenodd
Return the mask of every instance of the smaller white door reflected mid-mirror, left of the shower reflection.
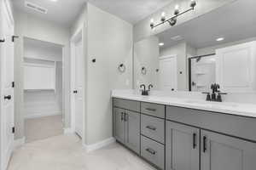
M 177 90 L 176 55 L 160 58 L 160 90 Z

